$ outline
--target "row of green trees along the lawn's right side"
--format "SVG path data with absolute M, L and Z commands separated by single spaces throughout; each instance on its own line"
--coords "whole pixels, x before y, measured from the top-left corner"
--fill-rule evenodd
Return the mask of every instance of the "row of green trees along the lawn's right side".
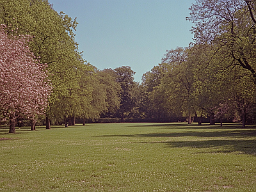
M 256 1 L 197 0 L 189 9 L 194 43 L 172 49 L 143 75 L 150 113 L 254 120 Z M 153 114 L 152 114 L 153 115 Z

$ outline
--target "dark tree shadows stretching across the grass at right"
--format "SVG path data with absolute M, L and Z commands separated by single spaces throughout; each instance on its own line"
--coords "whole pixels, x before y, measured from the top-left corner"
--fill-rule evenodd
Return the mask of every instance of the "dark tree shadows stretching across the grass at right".
M 168 132 L 168 133 L 148 133 L 148 134 L 126 134 L 126 135 L 105 135 L 101 137 L 149 137 L 149 138 L 209 138 L 206 140 L 191 139 L 188 141 L 145 141 L 139 143 L 165 143 L 170 148 L 203 148 L 204 152 L 200 153 L 230 153 L 251 154 L 256 156 L 256 130 L 255 129 L 238 129 L 223 131 L 186 131 L 186 132 Z M 206 150 L 209 149 L 209 150 Z

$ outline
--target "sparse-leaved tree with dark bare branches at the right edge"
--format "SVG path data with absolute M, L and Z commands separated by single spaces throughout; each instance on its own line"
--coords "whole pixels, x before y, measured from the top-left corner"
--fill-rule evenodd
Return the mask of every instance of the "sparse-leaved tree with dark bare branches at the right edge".
M 215 60 L 212 62 L 212 66 L 215 65 L 214 68 L 218 68 L 216 72 L 221 74 L 218 79 L 230 83 L 227 87 L 232 94 L 226 92 L 223 95 L 229 96 L 229 98 L 226 97 L 226 100 L 232 100 L 231 106 L 237 106 L 233 109 L 240 111 L 244 127 L 246 113 L 248 113 L 246 111 L 252 109 L 252 99 L 250 98 L 254 91 L 250 87 L 251 83 L 253 82 L 256 86 L 255 1 L 198 0 L 190 10 L 191 16 L 188 17 L 188 20 L 195 24 L 195 28 L 193 28 L 194 45 L 208 44 L 216 50 L 212 52 L 211 57 Z M 244 70 L 247 70 L 248 73 Z M 234 72 L 236 72 L 236 76 L 232 76 Z M 241 76 L 247 79 L 243 83 L 241 83 L 241 79 L 243 79 Z M 227 77 L 232 79 L 232 82 L 228 81 Z

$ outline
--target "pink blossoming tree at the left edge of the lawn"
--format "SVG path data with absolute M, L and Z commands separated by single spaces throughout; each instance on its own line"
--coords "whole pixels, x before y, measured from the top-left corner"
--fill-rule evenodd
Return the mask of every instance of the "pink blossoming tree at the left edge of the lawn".
M 47 65 L 29 51 L 31 36 L 12 36 L 0 27 L 0 120 L 10 120 L 15 133 L 15 118 L 20 114 L 34 120 L 44 115 L 51 85 Z

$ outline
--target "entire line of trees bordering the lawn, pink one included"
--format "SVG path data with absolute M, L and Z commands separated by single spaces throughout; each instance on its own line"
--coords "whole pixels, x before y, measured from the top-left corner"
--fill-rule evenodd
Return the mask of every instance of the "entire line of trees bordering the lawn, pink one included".
M 15 132 L 15 121 L 29 119 L 34 130 L 42 118 L 46 129 L 51 129 L 51 120 L 72 125 L 76 118 L 85 123 L 186 117 L 188 123 L 196 119 L 201 124 L 208 117 L 210 124 L 229 119 L 244 127 L 256 119 L 255 8 L 249 0 L 196 0 L 187 18 L 193 23 L 194 42 L 166 51 L 139 84 L 131 67 L 99 70 L 83 60 L 74 38 L 76 19 L 57 13 L 48 1 L 0 0 L 1 36 L 21 39 L 30 51 L 20 48 L 22 55 L 32 58 L 34 71 L 40 70 L 14 70 L 14 63 L 26 61 L 15 51 L 2 50 L 0 120 L 10 122 L 10 132 Z M 8 59 L 10 52 L 15 60 Z M 35 79 L 40 86 L 33 86 Z

